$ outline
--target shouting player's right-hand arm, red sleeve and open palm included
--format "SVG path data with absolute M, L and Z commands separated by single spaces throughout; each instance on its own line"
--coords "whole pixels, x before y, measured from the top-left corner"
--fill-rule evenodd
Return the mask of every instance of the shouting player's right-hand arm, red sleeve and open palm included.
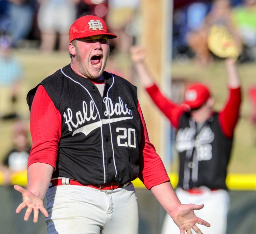
M 170 179 L 156 153 L 154 145 L 150 143 L 145 121 L 138 102 L 138 112 L 141 117 L 141 145 L 140 145 L 140 175 L 147 189 L 150 189 L 160 205 L 167 211 L 173 221 L 179 226 L 181 234 L 192 234 L 191 228 L 198 234 L 202 234 L 196 223 L 210 226 L 210 224 L 195 216 L 194 210 L 203 208 L 204 205 L 181 204 L 170 183 Z

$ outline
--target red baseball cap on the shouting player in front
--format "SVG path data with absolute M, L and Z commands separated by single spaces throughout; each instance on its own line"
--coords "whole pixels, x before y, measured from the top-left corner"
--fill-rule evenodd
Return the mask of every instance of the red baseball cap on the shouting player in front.
M 76 19 L 70 26 L 69 42 L 95 35 L 107 35 L 110 39 L 117 37 L 115 34 L 108 33 L 108 27 L 102 18 L 94 15 L 86 15 Z

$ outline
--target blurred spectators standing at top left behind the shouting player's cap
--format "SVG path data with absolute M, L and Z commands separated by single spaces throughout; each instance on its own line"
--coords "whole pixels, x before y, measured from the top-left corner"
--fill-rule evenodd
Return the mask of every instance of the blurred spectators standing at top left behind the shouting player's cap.
M 118 34 L 116 45 L 112 46 L 128 51 L 133 43 L 132 24 L 139 4 L 140 0 L 0 0 L 0 33 L 10 36 L 12 47 L 38 41 L 35 46 L 45 52 L 66 51 L 73 21 L 84 15 L 96 15 Z

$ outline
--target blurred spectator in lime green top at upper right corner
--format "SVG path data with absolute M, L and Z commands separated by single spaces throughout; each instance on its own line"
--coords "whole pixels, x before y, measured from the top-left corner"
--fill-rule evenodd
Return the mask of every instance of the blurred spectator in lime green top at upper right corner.
M 244 0 L 232 11 L 234 24 L 244 44 L 245 60 L 256 59 L 256 0 Z

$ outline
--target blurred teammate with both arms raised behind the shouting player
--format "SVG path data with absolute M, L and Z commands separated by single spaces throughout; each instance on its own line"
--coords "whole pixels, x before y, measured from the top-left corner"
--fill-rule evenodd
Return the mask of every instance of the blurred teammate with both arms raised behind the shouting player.
M 167 99 L 144 63 L 146 50 L 134 46 L 130 52 L 142 86 L 178 130 L 175 143 L 180 156 L 178 198 L 182 203 L 204 203 L 204 209 L 196 214 L 209 220 L 211 227 L 200 226 L 203 233 L 225 234 L 229 206 L 225 180 L 241 103 L 241 84 L 234 59 L 225 61 L 229 99 L 222 111 L 215 112 L 214 99 L 203 84 L 188 88 L 183 105 Z M 168 216 L 162 228 L 162 234 L 167 233 L 180 233 Z

